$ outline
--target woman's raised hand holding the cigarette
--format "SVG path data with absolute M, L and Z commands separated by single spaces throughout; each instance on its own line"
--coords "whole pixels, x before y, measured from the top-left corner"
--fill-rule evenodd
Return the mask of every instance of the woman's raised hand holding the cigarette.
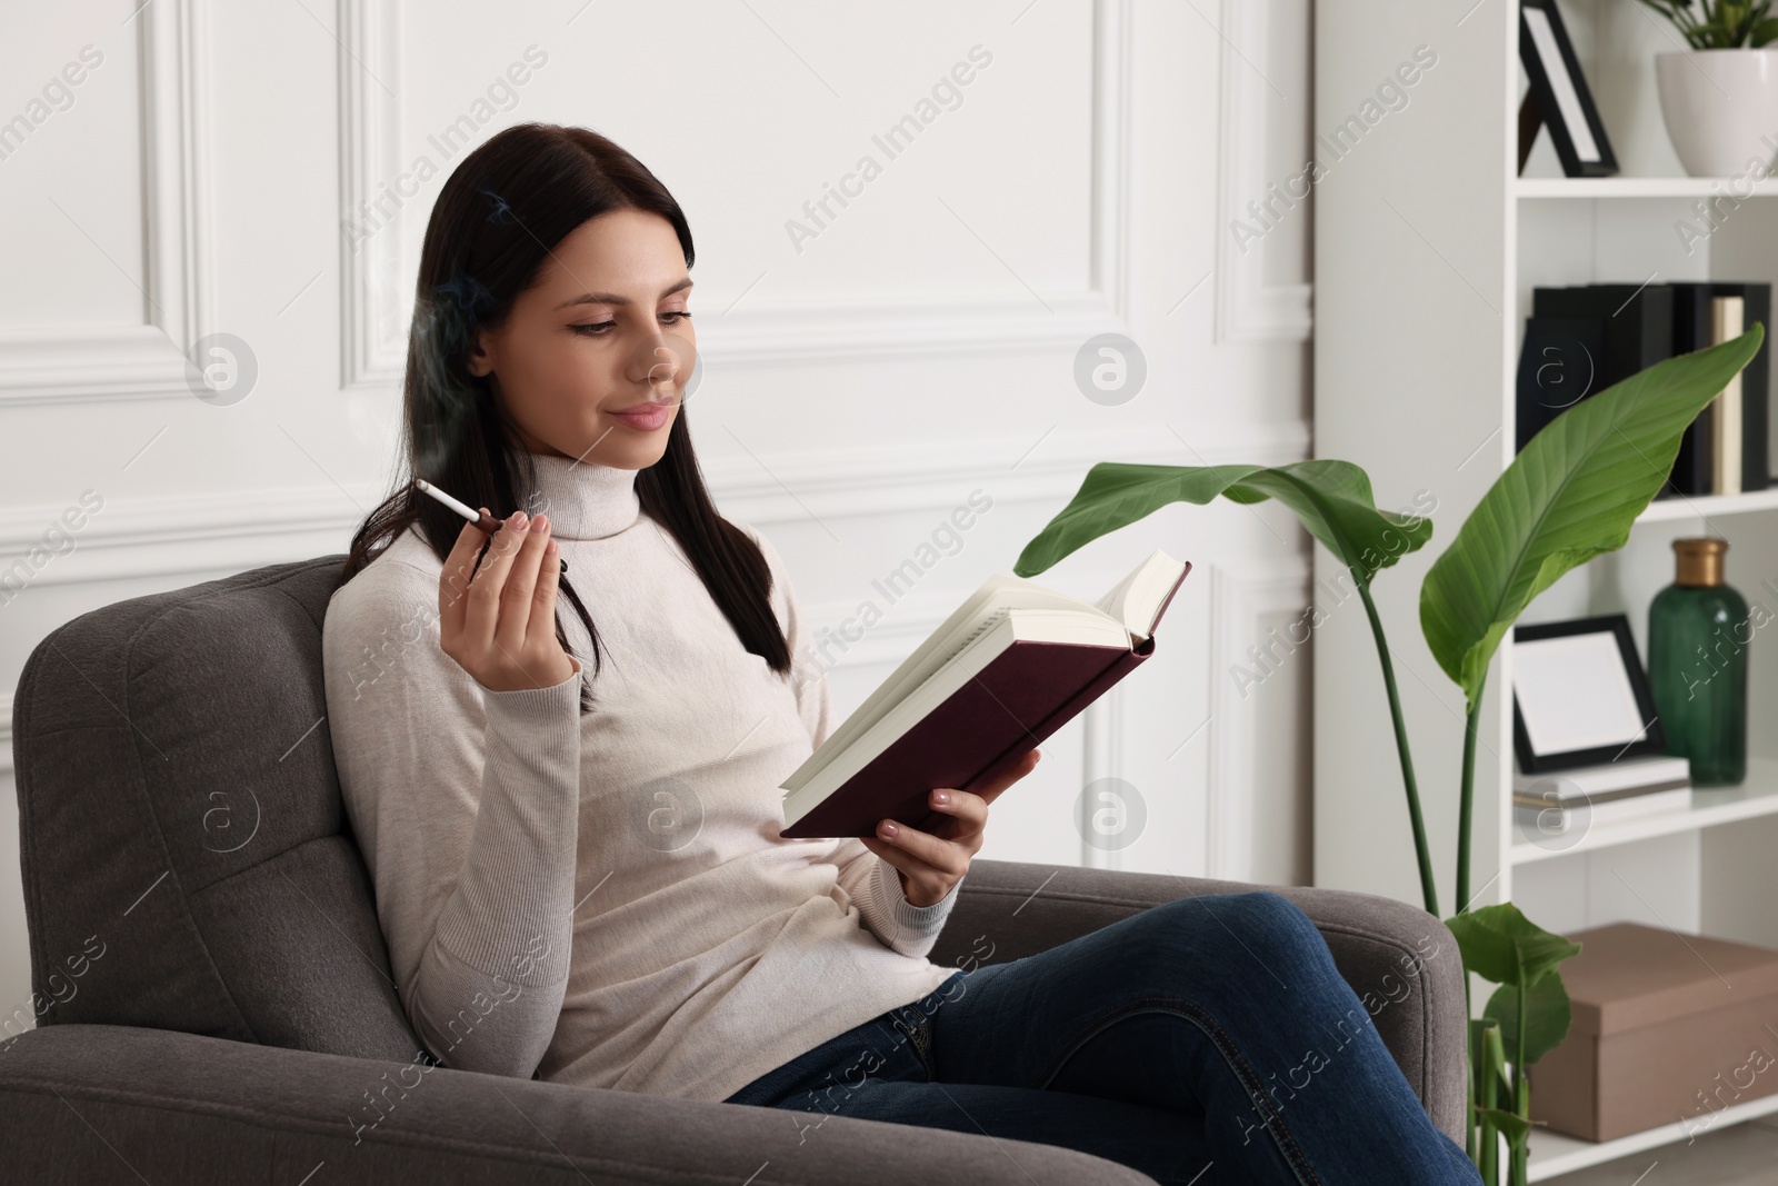
M 482 507 L 487 514 L 487 507 Z M 464 523 L 439 573 L 439 644 L 489 692 L 549 688 L 580 672 L 555 637 L 562 576 L 549 519 L 516 512 L 500 525 L 482 565 L 487 535 Z

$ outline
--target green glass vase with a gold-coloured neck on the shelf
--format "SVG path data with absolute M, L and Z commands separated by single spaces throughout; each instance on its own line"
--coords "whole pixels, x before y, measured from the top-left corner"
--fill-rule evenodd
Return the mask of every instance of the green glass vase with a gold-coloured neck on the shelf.
M 1748 775 L 1748 603 L 1723 581 L 1726 541 L 1675 539 L 1673 551 L 1675 580 L 1648 605 L 1648 683 L 1691 784 L 1732 786 Z

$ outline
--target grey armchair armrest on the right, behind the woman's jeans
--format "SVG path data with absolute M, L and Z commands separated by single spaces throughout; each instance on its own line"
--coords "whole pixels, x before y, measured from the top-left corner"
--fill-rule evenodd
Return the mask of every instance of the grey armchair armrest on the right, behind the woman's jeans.
M 1314 921 L 1426 1113 L 1462 1145 L 1469 1102 L 1463 960 L 1451 930 L 1421 907 L 1344 889 L 978 857 L 928 958 L 957 967 L 971 966 L 971 957 L 1003 964 L 1173 898 L 1253 889 L 1287 898 Z

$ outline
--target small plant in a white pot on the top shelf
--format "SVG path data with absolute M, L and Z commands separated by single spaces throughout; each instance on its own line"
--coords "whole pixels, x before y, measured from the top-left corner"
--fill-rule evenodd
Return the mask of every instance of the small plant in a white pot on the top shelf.
M 1778 135 L 1778 16 L 1773 0 L 1641 0 L 1673 21 L 1689 50 L 1655 53 L 1661 117 L 1694 178 L 1769 165 Z

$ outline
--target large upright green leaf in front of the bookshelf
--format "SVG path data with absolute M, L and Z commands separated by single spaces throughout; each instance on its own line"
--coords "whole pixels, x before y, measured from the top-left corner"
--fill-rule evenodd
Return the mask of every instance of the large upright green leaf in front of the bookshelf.
M 1666 484 L 1680 437 L 1746 366 L 1764 327 L 1655 363 L 1552 420 L 1483 494 L 1421 585 L 1438 665 L 1481 697 L 1501 638 L 1565 573 L 1622 548 Z

